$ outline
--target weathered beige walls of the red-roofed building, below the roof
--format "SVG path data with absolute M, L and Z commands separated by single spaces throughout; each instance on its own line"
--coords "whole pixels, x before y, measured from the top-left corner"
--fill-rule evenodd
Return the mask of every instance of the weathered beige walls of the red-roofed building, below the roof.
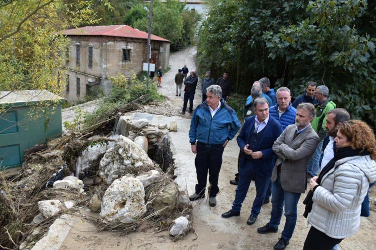
M 105 93 L 112 89 L 109 77 L 117 73 L 130 76 L 142 70 L 146 62 L 147 40 L 124 37 L 107 36 L 70 36 L 69 61 L 69 91 L 65 91 L 68 101 L 83 98 L 86 94 L 88 82 L 98 82 Z M 76 63 L 76 45 L 80 45 L 80 63 Z M 169 42 L 152 41 L 153 49 L 158 49 L 158 65 L 168 66 Z M 89 46 L 93 47 L 93 65 L 88 66 Z M 122 61 L 122 49 L 131 49 L 129 61 Z M 76 78 L 80 78 L 80 95 L 77 95 Z

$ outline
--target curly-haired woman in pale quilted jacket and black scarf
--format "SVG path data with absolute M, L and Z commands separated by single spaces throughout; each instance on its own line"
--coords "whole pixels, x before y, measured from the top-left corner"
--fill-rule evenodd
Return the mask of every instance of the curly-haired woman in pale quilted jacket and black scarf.
M 312 226 L 305 250 L 332 249 L 355 234 L 361 203 L 369 183 L 376 180 L 376 140 L 365 122 L 344 122 L 334 141 L 334 158 L 309 182 L 313 204 L 308 222 Z

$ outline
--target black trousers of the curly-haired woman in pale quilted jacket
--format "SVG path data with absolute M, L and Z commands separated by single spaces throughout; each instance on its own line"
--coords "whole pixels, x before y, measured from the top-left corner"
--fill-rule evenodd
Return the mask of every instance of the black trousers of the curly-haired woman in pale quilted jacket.
M 332 238 L 317 230 L 313 226 L 309 229 L 307 237 L 305 238 L 303 250 L 331 250 L 333 247 L 342 241 L 342 238 Z

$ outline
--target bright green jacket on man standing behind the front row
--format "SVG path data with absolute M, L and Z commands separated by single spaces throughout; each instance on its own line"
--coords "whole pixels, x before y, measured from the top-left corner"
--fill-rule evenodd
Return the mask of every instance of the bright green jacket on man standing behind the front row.
M 326 123 L 326 115 L 328 111 L 335 108 L 335 103 L 327 98 L 326 100 L 316 104 L 316 115 L 311 121 L 312 128 L 316 131 L 320 137 L 320 141 L 324 139 L 326 135 L 326 128 L 324 127 Z

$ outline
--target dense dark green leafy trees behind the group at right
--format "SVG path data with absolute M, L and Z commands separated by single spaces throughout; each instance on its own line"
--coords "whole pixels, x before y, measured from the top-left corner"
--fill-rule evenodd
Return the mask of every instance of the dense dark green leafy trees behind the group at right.
M 329 87 L 352 118 L 376 127 L 376 2 L 367 0 L 208 0 L 198 68 L 230 71 L 248 95 L 267 76 L 293 96 L 309 80 Z

